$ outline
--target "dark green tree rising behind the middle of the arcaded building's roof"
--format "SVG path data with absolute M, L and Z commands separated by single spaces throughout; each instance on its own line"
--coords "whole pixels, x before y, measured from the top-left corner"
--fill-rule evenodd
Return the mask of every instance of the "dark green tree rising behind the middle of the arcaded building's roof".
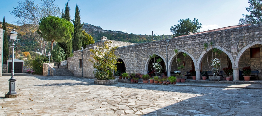
M 174 25 L 170 28 L 170 31 L 173 33 L 173 37 L 178 37 L 181 35 L 188 35 L 188 32 L 196 33 L 199 32 L 201 28 L 201 23 L 194 18 L 193 21 L 188 19 L 183 19 L 178 21 L 179 24 Z

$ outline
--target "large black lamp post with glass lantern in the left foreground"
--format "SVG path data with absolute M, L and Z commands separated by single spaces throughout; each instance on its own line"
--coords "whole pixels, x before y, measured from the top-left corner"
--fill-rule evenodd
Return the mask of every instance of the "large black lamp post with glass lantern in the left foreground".
M 10 32 L 10 40 L 13 41 L 13 55 L 12 55 L 12 73 L 11 73 L 11 78 L 8 80 L 9 81 L 9 91 L 5 95 L 5 98 L 13 98 L 17 97 L 17 93 L 15 92 L 15 81 L 16 79 L 14 78 L 14 49 L 15 49 L 15 41 L 17 41 L 17 35 L 18 33 L 13 29 L 13 31 Z

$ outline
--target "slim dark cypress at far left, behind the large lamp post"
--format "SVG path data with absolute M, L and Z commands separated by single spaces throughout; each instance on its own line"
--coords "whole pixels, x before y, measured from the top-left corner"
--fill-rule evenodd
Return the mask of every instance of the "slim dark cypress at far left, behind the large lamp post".
M 8 49 L 8 39 L 7 39 L 7 30 L 6 30 L 6 21 L 5 16 L 3 18 L 3 30 L 5 30 L 4 36 L 3 36 L 3 64 L 6 64 L 9 56 L 9 49 Z

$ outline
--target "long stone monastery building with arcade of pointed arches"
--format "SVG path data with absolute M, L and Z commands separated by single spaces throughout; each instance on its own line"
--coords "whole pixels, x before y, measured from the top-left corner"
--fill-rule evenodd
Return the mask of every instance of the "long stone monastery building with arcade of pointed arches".
M 181 59 L 184 60 L 182 53 L 188 55 L 185 61 L 182 60 L 186 71 L 195 69 L 197 80 L 200 80 L 200 73 L 209 70 L 203 44 L 209 43 L 207 54 L 210 63 L 210 42 L 213 42 L 213 48 L 223 52 L 221 55 L 221 68 L 232 67 L 234 81 L 239 80 L 239 70 L 248 66 L 251 66 L 252 70 L 259 70 L 259 78 L 261 79 L 262 24 L 229 26 L 198 33 L 190 32 L 189 35 L 168 40 L 169 43 L 167 43 L 167 40 L 160 40 L 134 44 L 101 37 L 100 42 L 87 45 L 82 52 L 81 50 L 75 51 L 74 56 L 67 59 L 68 69 L 75 76 L 82 77 L 83 70 L 83 77 L 94 78 L 93 71 L 95 69 L 93 64 L 88 61 L 88 59 L 92 59 L 90 49 L 103 45 L 105 41 L 111 41 L 112 47 L 119 46 L 115 51 L 115 55 L 120 56 L 117 60 L 123 62 L 121 66 L 118 66 L 118 70 L 122 72 L 141 74 L 151 72 L 149 56 L 156 54 L 163 59 L 161 62 L 164 68 L 163 73 L 167 72 L 167 75 L 170 76 L 177 70 L 174 50 L 178 49 L 178 57 Z

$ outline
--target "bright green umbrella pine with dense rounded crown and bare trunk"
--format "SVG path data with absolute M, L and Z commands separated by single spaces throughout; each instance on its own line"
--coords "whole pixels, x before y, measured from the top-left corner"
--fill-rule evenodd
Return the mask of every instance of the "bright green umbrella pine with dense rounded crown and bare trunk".
M 69 41 L 73 30 L 74 27 L 71 22 L 63 18 L 48 16 L 40 20 L 37 33 L 47 41 L 51 41 L 50 50 L 52 51 L 54 41 Z

